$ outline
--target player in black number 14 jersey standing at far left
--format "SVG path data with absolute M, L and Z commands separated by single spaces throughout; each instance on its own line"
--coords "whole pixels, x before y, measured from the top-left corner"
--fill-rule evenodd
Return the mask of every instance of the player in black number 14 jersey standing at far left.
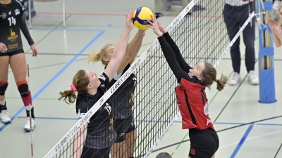
M 30 119 L 27 118 L 24 130 L 32 131 L 35 128 L 35 114 L 26 81 L 26 60 L 20 30 L 30 44 L 32 56 L 37 56 L 37 49 L 27 29 L 24 12 L 25 7 L 18 0 L 0 1 L 0 119 L 4 124 L 11 123 L 5 101 L 5 91 L 8 87 L 8 66 L 10 65 L 23 105 L 25 105 L 27 117 L 30 117 L 30 113 L 32 117 L 32 129 L 30 129 Z

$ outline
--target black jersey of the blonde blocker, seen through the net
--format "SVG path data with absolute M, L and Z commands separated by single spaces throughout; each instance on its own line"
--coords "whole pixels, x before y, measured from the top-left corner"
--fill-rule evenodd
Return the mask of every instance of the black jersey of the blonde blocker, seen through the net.
M 114 79 L 111 80 L 108 88 L 111 88 L 116 81 L 129 69 L 130 64 L 128 64 L 123 72 L 116 74 Z M 109 98 L 109 103 L 113 108 L 113 118 L 114 119 L 125 119 L 133 114 L 132 107 L 134 105 L 133 96 L 136 87 L 136 76 L 135 74 L 130 74 L 130 77 L 126 79 L 123 84 L 113 93 Z

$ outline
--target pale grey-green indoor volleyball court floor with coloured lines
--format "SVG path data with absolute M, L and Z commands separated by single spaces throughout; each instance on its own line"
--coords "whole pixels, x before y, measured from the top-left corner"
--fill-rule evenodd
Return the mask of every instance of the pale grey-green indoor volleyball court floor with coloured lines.
M 125 13 L 140 6 L 154 10 L 154 1 L 66 1 L 66 29 L 63 29 L 62 1 L 34 2 L 37 15 L 32 18 L 30 30 L 39 55 L 33 58 L 27 41 L 27 63 L 30 66 L 30 89 L 35 105 L 36 128 L 32 132 L 34 157 L 44 157 L 49 150 L 76 123 L 75 105 L 59 102 L 59 91 L 69 89 L 74 74 L 80 69 L 101 74 L 102 63 L 87 63 L 87 54 L 98 51 L 106 43 L 116 44 L 125 25 Z M 111 4 L 111 5 L 109 5 Z M 168 26 L 178 13 L 159 18 Z M 28 21 L 27 21 L 28 23 Z M 134 28 L 130 39 L 137 29 Z M 147 30 L 141 55 L 156 39 L 152 30 Z M 241 40 L 242 41 L 242 40 Z M 256 44 L 256 53 L 258 44 Z M 245 46 L 241 51 L 245 52 Z M 218 131 L 220 146 L 217 158 L 226 157 L 282 157 L 282 48 L 274 48 L 276 81 L 276 103 L 259 103 L 259 86 L 248 84 L 245 61 L 241 64 L 242 81 L 238 86 L 228 84 L 222 92 L 207 90 L 209 115 Z M 243 55 L 243 54 L 242 54 Z M 256 73 L 257 71 L 256 63 Z M 229 53 L 225 55 L 217 71 L 231 77 L 232 67 Z M 0 157 L 31 157 L 31 134 L 23 131 L 25 110 L 13 80 L 8 74 L 6 91 L 8 110 L 13 117 L 11 124 L 0 124 Z M 277 118 L 273 118 L 277 117 Z M 149 121 L 149 120 L 147 120 Z M 164 120 L 167 121 L 167 120 Z M 248 124 L 254 122 L 252 124 Z M 245 125 L 244 125 L 245 124 Z M 243 125 L 243 126 L 239 126 Z M 236 127 L 238 126 L 238 127 Z M 233 127 L 233 128 L 231 128 Z M 161 143 L 149 157 L 159 152 L 168 152 L 172 157 L 188 157 L 190 142 L 188 130 L 181 129 L 180 118 L 166 133 Z

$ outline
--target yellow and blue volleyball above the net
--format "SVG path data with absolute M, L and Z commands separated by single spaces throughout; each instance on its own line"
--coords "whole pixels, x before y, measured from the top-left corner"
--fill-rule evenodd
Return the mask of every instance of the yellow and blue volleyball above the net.
M 148 29 L 149 27 L 147 27 L 147 25 L 149 25 L 149 22 L 147 22 L 147 20 L 152 21 L 151 15 L 154 15 L 151 9 L 139 7 L 133 12 L 133 24 L 138 29 Z

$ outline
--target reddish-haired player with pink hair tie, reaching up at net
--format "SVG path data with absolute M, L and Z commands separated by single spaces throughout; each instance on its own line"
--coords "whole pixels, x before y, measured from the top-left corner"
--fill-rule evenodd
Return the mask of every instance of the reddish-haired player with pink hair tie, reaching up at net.
M 111 51 L 111 61 L 109 61 L 104 72 L 97 77 L 94 72 L 80 70 L 73 77 L 71 89 L 60 92 L 59 100 L 63 98 L 66 103 L 74 103 L 76 99 L 78 119 L 81 119 L 102 98 L 106 93 L 109 82 L 116 74 L 121 60 L 123 60 L 130 32 L 133 29 L 132 15 L 133 11 L 130 11 L 126 16 L 125 28 L 116 47 Z M 75 96 L 75 92 L 78 92 L 78 96 Z M 112 107 L 107 101 L 90 117 L 90 121 L 82 126 L 78 133 L 75 133 L 73 143 L 73 156 L 75 158 L 109 158 L 110 147 L 117 138 L 112 126 L 111 109 Z

